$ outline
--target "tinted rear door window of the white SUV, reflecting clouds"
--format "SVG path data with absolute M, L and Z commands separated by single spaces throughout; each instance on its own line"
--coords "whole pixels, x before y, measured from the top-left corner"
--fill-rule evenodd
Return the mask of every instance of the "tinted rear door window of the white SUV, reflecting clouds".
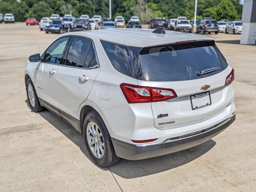
M 67 54 L 65 65 L 84 67 L 85 57 L 91 41 L 85 38 L 74 37 Z

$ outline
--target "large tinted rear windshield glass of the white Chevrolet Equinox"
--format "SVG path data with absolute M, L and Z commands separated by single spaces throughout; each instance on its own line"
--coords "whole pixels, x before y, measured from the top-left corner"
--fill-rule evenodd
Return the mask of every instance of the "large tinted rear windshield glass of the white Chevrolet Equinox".
M 143 48 L 139 60 L 146 81 L 199 79 L 217 74 L 228 66 L 213 41 Z M 221 70 L 198 76 L 202 70 L 216 67 Z

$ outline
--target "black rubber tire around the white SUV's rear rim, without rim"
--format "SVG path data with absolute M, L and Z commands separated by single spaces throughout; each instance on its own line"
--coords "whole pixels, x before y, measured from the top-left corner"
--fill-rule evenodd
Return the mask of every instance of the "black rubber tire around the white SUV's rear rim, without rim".
M 87 142 L 87 136 L 86 136 L 86 128 L 89 122 L 96 123 L 102 132 L 102 137 L 104 139 L 104 145 L 105 145 L 104 155 L 102 156 L 102 158 L 96 158 L 91 152 L 91 149 L 89 148 L 89 144 Z M 104 121 L 102 120 L 100 114 L 98 114 L 96 111 L 89 112 L 85 117 L 85 120 L 83 122 L 83 138 L 85 139 L 85 144 L 91 156 L 91 159 L 98 166 L 109 167 L 116 164 L 120 160 L 120 157 L 116 156 L 114 146 L 112 144 L 112 140 L 111 140 L 110 134 L 108 133 L 107 127 Z

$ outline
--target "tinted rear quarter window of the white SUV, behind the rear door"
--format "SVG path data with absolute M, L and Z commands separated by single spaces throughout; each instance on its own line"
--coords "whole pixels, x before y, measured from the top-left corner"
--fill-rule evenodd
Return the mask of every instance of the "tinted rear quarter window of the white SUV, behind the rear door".
M 136 78 L 131 64 L 128 47 L 106 41 L 101 41 L 101 43 L 112 66 L 118 72 Z

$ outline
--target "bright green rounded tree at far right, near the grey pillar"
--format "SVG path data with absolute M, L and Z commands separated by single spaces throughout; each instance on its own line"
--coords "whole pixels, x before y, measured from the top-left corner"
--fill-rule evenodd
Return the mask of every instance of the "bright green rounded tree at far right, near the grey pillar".
M 217 5 L 216 9 L 216 15 L 218 20 L 234 20 L 238 18 L 238 12 L 231 0 L 221 0 L 221 2 L 219 2 L 219 4 Z

